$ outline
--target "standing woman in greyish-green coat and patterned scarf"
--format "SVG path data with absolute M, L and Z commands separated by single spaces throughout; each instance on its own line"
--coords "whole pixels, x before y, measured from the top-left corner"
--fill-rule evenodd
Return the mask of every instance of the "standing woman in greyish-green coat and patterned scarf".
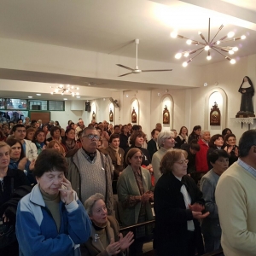
M 141 167 L 143 153 L 139 148 L 131 148 L 126 154 L 128 165 L 119 177 L 117 192 L 120 205 L 120 219 L 125 226 L 153 219 L 151 201 L 154 201 L 150 173 Z M 145 236 L 145 227 L 137 228 L 137 237 Z M 131 255 L 141 253 L 142 243 L 131 246 Z

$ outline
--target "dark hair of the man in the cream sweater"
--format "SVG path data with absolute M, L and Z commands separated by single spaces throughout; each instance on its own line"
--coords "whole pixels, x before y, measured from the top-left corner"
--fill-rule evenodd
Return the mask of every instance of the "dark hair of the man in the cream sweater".
M 256 146 L 256 130 L 245 131 L 239 140 L 239 156 L 244 157 L 249 154 L 252 146 Z

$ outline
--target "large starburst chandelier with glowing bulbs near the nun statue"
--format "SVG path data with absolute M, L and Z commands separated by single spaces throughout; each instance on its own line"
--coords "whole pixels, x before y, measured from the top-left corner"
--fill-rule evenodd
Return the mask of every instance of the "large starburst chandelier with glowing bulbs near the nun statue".
M 208 40 L 203 36 L 203 34 L 201 32 L 198 32 L 198 34 L 201 36 L 201 39 L 204 42 L 199 42 L 199 41 L 195 41 L 189 38 L 185 38 L 181 35 L 177 35 L 177 32 L 172 32 L 171 33 L 171 37 L 172 38 L 182 38 L 182 39 L 187 39 L 187 44 L 195 44 L 198 46 L 201 46 L 198 49 L 192 49 L 192 50 L 187 50 L 187 51 L 183 51 L 183 52 L 179 52 L 175 55 L 176 59 L 180 59 L 182 56 L 184 57 L 189 57 L 189 55 L 193 55 L 195 53 L 197 53 L 196 55 L 194 55 L 193 57 L 189 58 L 188 61 L 184 61 L 183 62 L 183 67 L 187 67 L 189 62 L 191 62 L 197 55 L 200 55 L 202 51 L 207 51 L 207 60 L 210 61 L 212 59 L 211 56 L 211 50 L 215 50 L 217 51 L 220 55 L 223 55 L 224 58 L 228 61 L 230 61 L 231 64 L 235 64 L 236 60 L 235 59 L 231 59 L 229 56 L 224 55 L 223 53 L 221 53 L 220 51 L 224 51 L 226 53 L 229 53 L 230 55 L 233 55 L 238 48 L 235 47 L 231 47 L 231 46 L 220 46 L 220 44 L 224 44 L 226 42 L 230 42 L 230 41 L 236 41 L 236 40 L 240 40 L 240 39 L 245 39 L 246 36 L 241 36 L 238 38 L 233 38 L 235 33 L 234 32 L 229 32 L 226 36 L 224 36 L 223 38 L 220 38 L 216 41 L 214 41 L 214 39 L 217 37 L 218 32 L 220 32 L 222 30 L 222 28 L 224 27 L 224 25 L 219 26 L 218 28 L 218 32 L 215 34 L 215 36 L 212 38 L 212 40 L 210 39 L 210 32 L 211 32 L 211 28 L 210 28 L 210 21 L 211 19 L 209 18 L 209 26 L 208 26 Z M 228 38 L 228 39 L 227 39 Z M 227 39 L 227 40 L 225 40 Z

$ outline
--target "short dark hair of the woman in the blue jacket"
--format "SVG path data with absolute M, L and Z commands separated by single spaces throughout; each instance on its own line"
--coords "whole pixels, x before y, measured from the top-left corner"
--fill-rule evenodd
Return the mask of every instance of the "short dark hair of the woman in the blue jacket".
M 33 175 L 35 177 L 42 177 L 44 172 L 53 171 L 64 172 L 66 174 L 67 161 L 58 150 L 46 148 L 38 155 Z

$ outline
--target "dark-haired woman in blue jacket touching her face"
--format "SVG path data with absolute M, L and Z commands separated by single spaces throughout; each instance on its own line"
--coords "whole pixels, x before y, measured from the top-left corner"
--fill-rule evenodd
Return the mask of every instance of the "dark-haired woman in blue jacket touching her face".
M 17 210 L 20 255 L 79 255 L 79 244 L 88 240 L 90 218 L 66 172 L 67 162 L 58 151 L 39 154 L 34 170 L 38 184 Z

